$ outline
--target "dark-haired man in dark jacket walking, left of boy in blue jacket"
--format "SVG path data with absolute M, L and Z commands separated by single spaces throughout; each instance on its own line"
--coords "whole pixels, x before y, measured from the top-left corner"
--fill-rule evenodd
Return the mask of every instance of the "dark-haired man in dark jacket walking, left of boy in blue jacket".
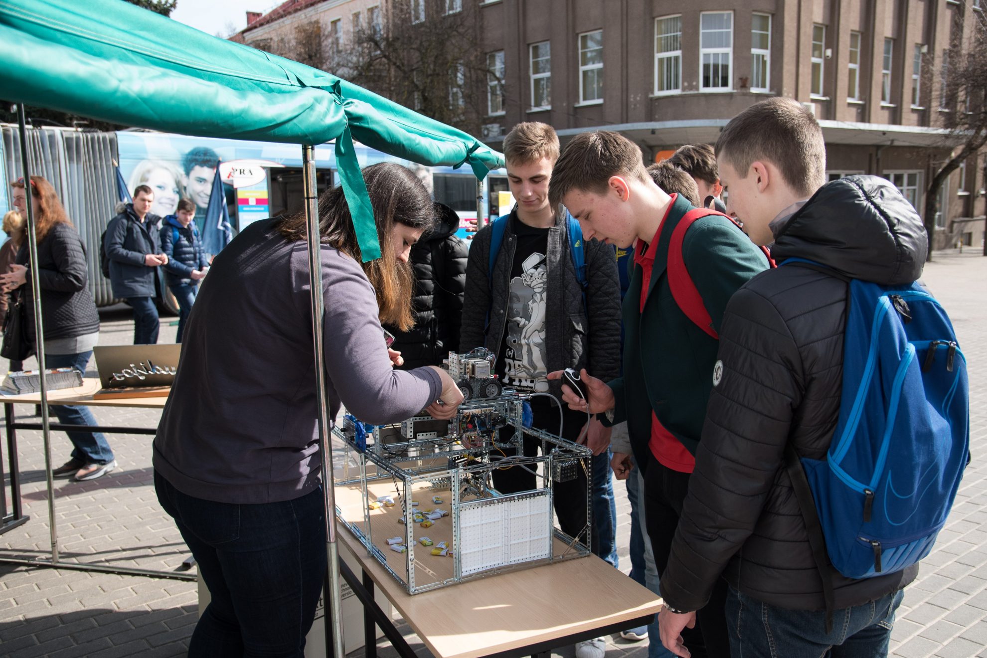
M 114 297 L 126 300 L 133 309 L 133 344 L 158 342 L 157 268 L 167 264 L 155 226 L 161 220 L 151 213 L 154 191 L 137 185 L 133 202 L 127 203 L 107 227 L 104 244 L 110 259 L 110 287 Z

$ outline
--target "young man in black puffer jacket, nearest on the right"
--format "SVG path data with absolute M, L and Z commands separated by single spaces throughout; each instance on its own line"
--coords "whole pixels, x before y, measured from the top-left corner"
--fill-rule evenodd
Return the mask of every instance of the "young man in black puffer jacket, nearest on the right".
M 922 220 L 883 179 L 825 184 L 822 130 L 792 99 L 742 111 L 716 150 L 727 206 L 751 241 L 773 243 L 778 262 L 815 264 L 765 272 L 726 307 L 717 368 L 703 371 L 714 389 L 682 506 L 688 523 L 661 579 L 662 641 L 689 655 L 680 631 L 725 577 L 734 656 L 886 656 L 901 589 L 918 566 L 860 580 L 819 566 L 786 451 L 827 459 L 840 415 L 847 280 L 910 285 L 926 255 Z

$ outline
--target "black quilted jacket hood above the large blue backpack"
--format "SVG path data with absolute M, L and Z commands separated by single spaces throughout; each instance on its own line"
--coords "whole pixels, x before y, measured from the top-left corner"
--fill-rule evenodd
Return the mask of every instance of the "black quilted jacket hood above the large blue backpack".
M 911 283 L 922 274 L 928 239 L 912 204 L 875 176 L 826 183 L 775 236 L 779 263 L 806 258 L 881 285 Z

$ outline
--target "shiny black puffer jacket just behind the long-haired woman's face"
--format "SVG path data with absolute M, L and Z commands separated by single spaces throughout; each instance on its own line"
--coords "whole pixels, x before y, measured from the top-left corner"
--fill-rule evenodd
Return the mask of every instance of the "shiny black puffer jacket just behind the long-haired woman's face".
M 399 331 L 387 327 L 396 340 L 392 346 L 405 359 L 403 370 L 442 365 L 450 351 L 459 351 L 459 328 L 466 288 L 466 243 L 457 238 L 459 216 L 436 203 L 438 223 L 412 248 L 415 269 L 415 327 Z

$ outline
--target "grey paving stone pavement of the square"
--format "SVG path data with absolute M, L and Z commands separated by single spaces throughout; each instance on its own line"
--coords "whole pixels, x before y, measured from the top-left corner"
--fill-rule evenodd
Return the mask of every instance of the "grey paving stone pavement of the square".
M 987 466 L 978 459 L 987 448 L 987 257 L 938 253 L 926 267 L 925 279 L 948 309 L 969 364 L 974 461 L 935 551 L 906 591 L 891 655 L 987 657 Z M 101 320 L 102 344 L 131 341 L 128 309 L 103 311 Z M 175 338 L 172 320 L 164 319 L 162 342 Z M 0 361 L 0 371 L 6 366 Z M 16 410 L 18 416 L 34 413 L 29 405 L 17 405 Z M 153 427 L 160 417 L 159 411 L 147 409 L 93 410 L 107 425 Z M 51 438 L 52 462 L 58 466 L 68 458 L 71 444 L 60 432 Z M 114 434 L 109 439 L 119 463 L 114 473 L 91 482 L 56 480 L 60 559 L 173 570 L 188 552 L 154 494 L 151 437 Z M 31 520 L 0 535 L 0 556 L 43 557 L 49 554 L 50 531 L 40 432 L 18 433 L 18 456 Z M 614 485 L 618 552 L 621 568 L 627 571 L 630 506 L 624 483 Z M 196 605 L 192 582 L 0 563 L 0 656 L 185 655 Z M 419 655 L 430 655 L 410 627 L 399 627 Z M 645 658 L 646 645 L 611 636 L 607 658 Z M 378 648 L 381 658 L 396 655 L 384 640 Z M 351 658 L 362 654 L 354 652 Z M 566 647 L 553 655 L 572 658 L 573 651 Z

